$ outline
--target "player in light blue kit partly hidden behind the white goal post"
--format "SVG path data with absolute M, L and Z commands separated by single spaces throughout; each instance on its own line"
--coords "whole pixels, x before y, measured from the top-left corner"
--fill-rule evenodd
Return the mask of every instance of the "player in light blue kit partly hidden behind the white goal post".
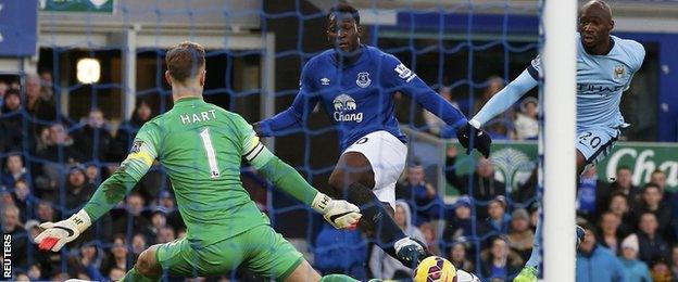
M 622 93 L 629 88 L 640 69 L 645 50 L 642 44 L 611 36 L 612 10 L 600 0 L 581 8 L 577 43 L 577 175 L 587 165 L 595 165 L 612 150 L 619 128 L 629 126 L 619 112 Z M 527 91 L 539 85 L 540 59 L 532 60 L 516 79 L 497 93 L 469 121 L 479 128 L 504 112 Z M 514 281 L 537 281 L 541 261 L 541 225 L 526 267 Z M 578 235 L 582 234 L 578 229 Z

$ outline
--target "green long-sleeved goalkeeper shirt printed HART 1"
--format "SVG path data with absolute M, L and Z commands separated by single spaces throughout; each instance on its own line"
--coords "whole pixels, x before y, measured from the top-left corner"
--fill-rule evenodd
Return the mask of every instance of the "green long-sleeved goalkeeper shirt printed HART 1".
M 201 98 L 180 99 L 171 111 L 141 127 L 121 168 L 101 184 L 85 206 L 92 220 L 122 200 L 156 158 L 170 176 L 193 247 L 269 223 L 242 187 L 240 165 L 244 158 L 262 169 L 277 157 L 261 144 L 242 117 L 205 103 Z M 277 176 L 281 179 L 291 174 L 305 183 L 291 170 L 293 172 L 281 170 L 278 166 L 273 174 L 287 172 L 287 177 Z M 310 204 L 317 191 L 307 183 L 305 187 L 294 184 L 298 191 L 284 190 L 296 192 L 297 198 Z

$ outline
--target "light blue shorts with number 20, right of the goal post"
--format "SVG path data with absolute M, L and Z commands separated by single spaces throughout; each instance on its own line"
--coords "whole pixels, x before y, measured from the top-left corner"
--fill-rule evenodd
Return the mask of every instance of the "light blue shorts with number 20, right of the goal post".
M 586 158 L 587 165 L 595 165 L 612 152 L 619 138 L 616 128 L 588 128 L 577 130 L 577 151 Z

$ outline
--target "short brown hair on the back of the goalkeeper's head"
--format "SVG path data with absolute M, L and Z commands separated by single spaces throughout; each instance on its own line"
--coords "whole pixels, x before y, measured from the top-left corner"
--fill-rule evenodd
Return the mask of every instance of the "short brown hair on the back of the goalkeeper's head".
M 204 66 L 204 47 L 199 43 L 184 41 L 171 47 L 165 56 L 170 75 L 179 82 L 196 77 L 198 69 Z

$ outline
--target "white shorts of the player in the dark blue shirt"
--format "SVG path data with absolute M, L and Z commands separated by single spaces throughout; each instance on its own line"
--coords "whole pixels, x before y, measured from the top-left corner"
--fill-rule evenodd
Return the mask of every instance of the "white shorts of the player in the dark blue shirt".
M 363 154 L 375 175 L 373 192 L 381 202 L 395 207 L 395 182 L 405 168 L 407 146 L 388 131 L 379 130 L 366 134 L 343 151 Z

